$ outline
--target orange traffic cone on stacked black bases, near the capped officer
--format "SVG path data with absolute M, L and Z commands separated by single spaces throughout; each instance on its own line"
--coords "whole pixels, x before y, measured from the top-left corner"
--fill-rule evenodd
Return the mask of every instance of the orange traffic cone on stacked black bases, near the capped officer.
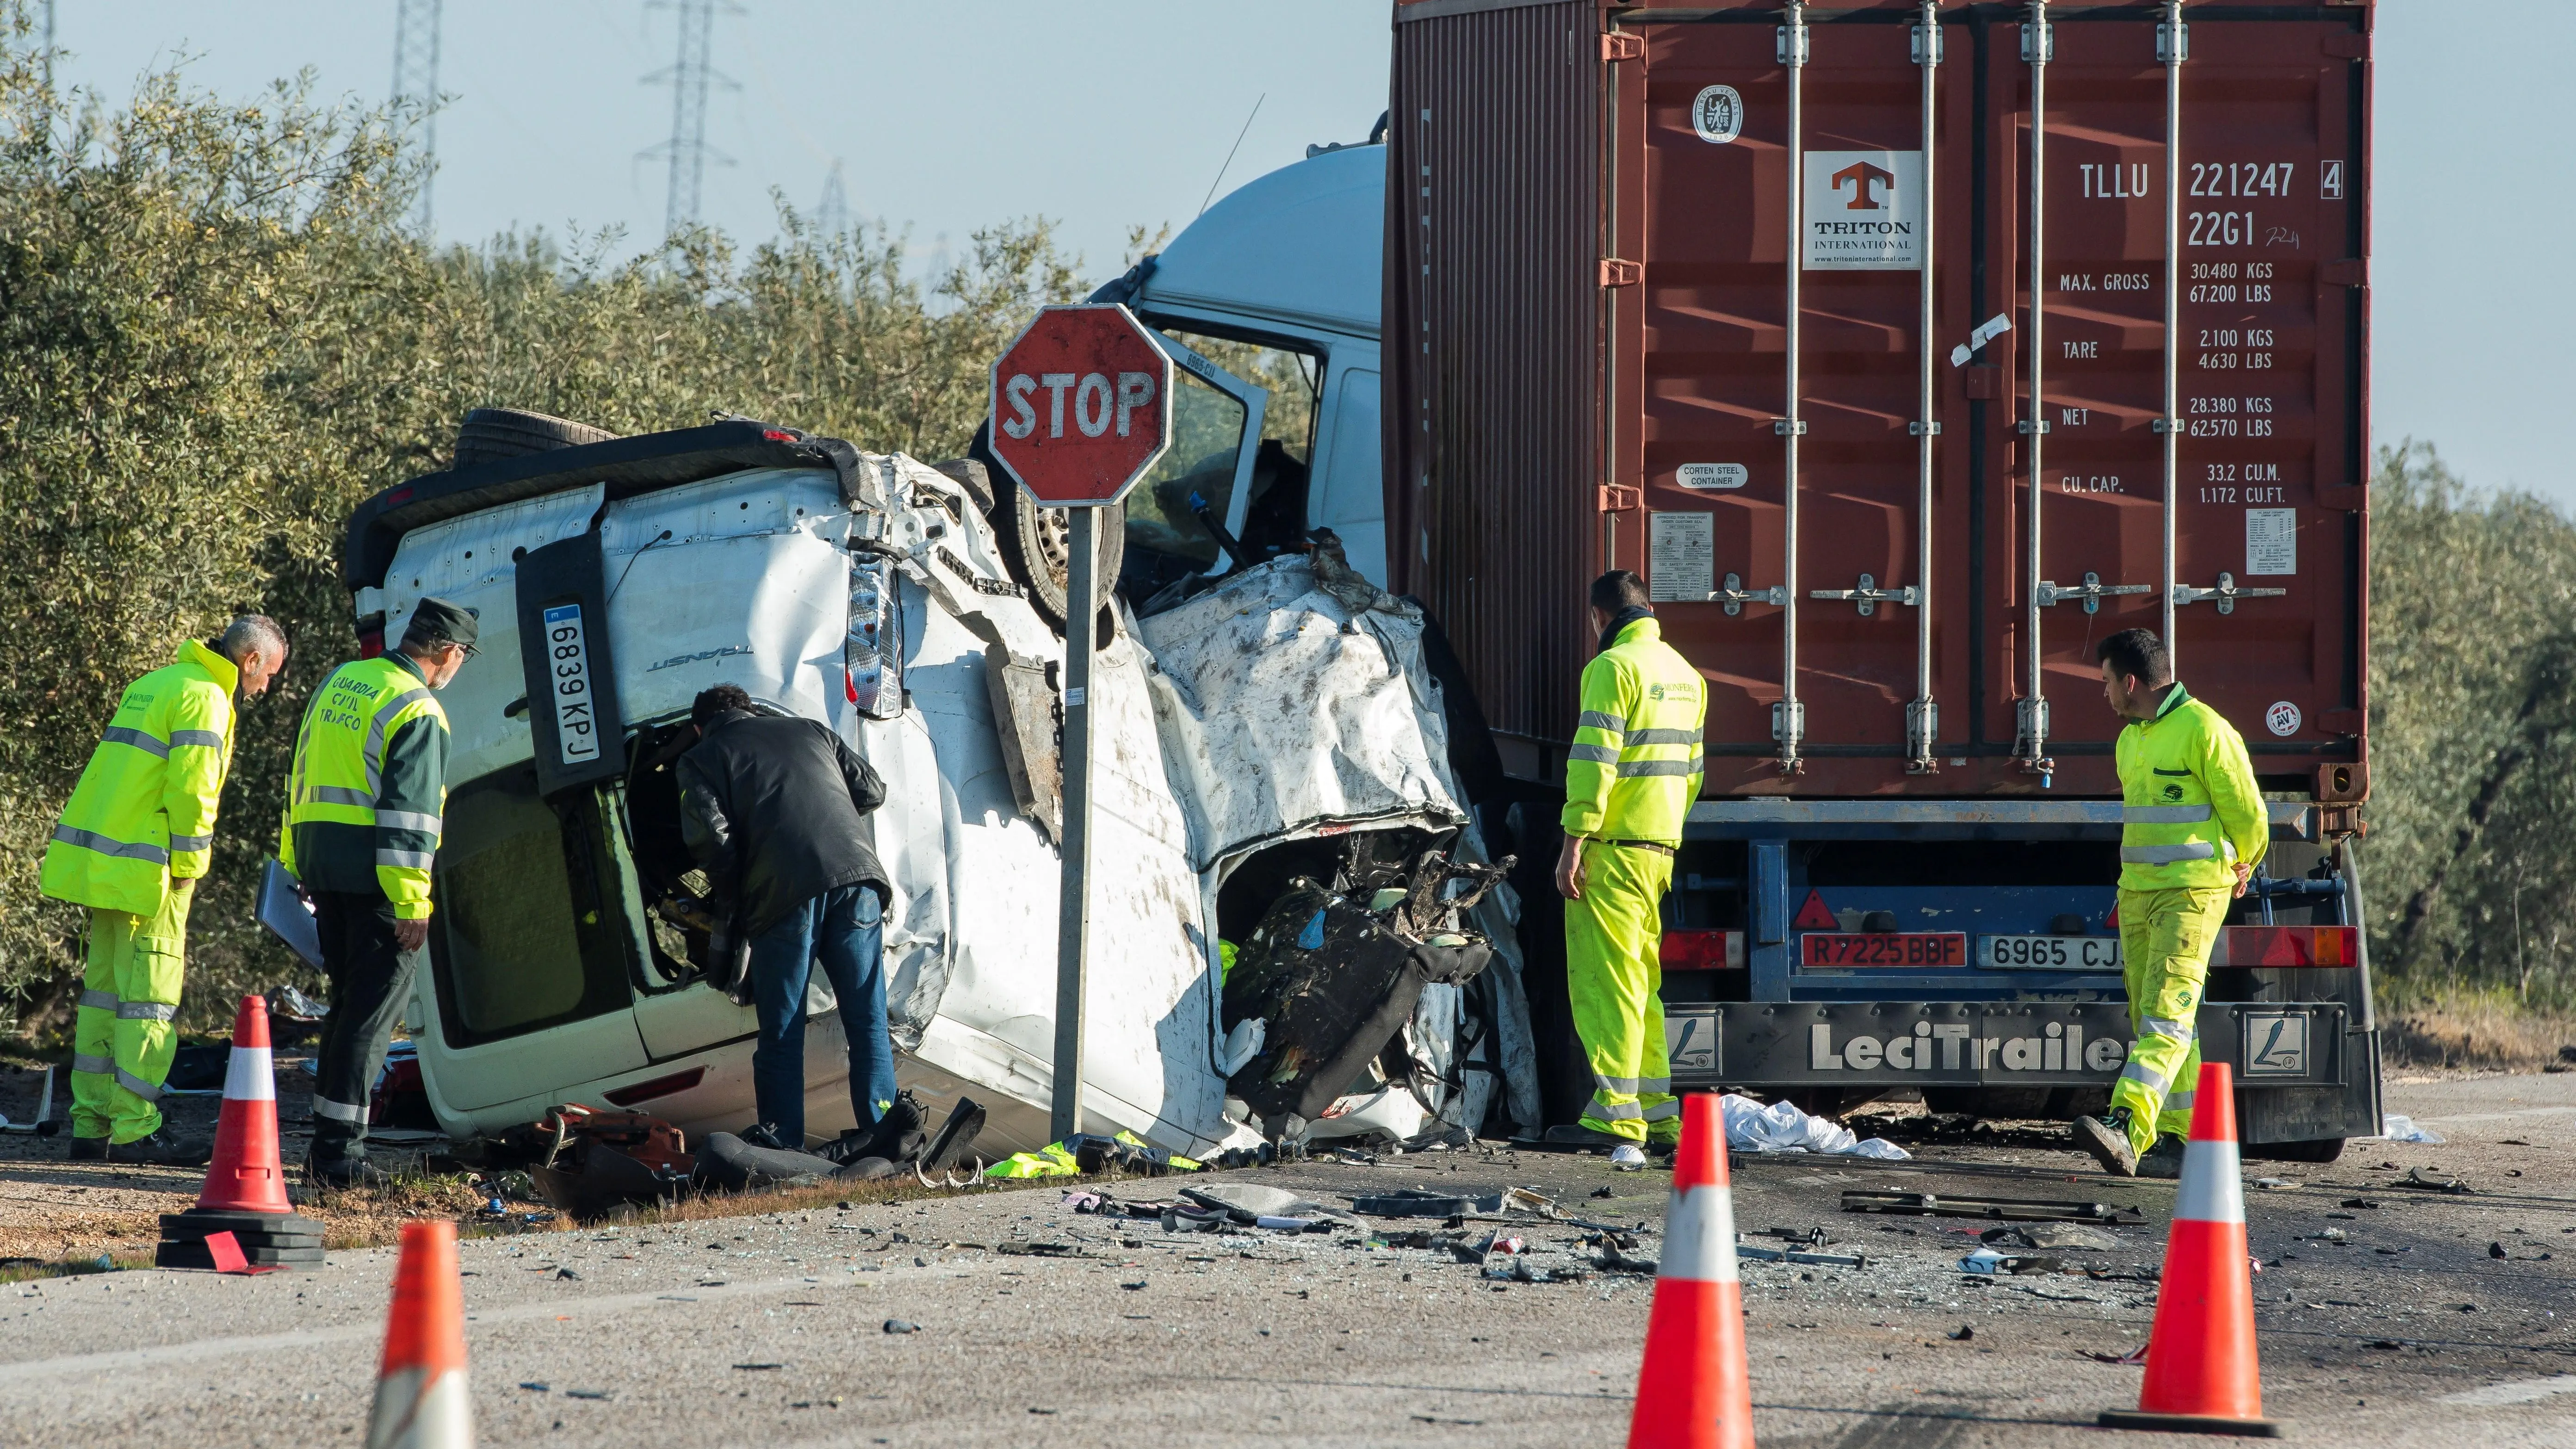
M 260 1266 L 319 1266 L 322 1225 L 286 1201 L 278 1163 L 278 1078 L 268 1060 L 268 1003 L 245 995 L 224 1065 L 224 1114 L 214 1124 L 214 1163 L 188 1212 L 162 1214 L 165 1269 L 211 1269 L 206 1238 L 232 1232 Z

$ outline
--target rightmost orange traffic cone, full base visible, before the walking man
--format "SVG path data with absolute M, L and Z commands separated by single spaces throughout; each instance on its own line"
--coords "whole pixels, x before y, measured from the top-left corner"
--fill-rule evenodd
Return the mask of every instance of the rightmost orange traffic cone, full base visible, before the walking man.
M 2102 1410 L 2102 1426 L 2280 1439 L 2282 1421 L 2262 1415 L 2236 1091 L 2226 1062 L 2200 1062 L 2192 1104 L 2156 1328 L 2146 1338 L 2146 1385 L 2136 1410 Z

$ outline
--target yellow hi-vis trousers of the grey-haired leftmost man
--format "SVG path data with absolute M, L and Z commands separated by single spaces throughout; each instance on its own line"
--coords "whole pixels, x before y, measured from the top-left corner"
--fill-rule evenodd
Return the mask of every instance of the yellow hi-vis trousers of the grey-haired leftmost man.
M 72 1137 L 134 1142 L 160 1132 L 193 895 L 193 879 L 175 879 L 152 915 L 90 908 L 90 967 L 72 1024 Z

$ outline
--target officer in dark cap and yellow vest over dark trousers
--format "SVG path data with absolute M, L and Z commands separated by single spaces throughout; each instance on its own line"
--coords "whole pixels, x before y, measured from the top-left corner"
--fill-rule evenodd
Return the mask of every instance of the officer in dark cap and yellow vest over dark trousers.
M 314 1052 L 322 1186 L 381 1186 L 366 1101 L 430 941 L 430 871 L 448 804 L 446 688 L 474 655 L 469 608 L 422 598 L 402 645 L 332 670 L 304 709 L 278 864 L 314 902 L 330 1016 Z

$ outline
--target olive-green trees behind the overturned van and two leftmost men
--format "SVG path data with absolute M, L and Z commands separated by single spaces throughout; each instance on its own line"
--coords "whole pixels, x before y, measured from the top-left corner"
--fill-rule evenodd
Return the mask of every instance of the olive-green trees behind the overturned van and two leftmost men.
M 886 229 L 778 242 L 698 232 L 626 263 L 500 237 L 433 253 L 407 229 L 394 119 L 299 83 L 232 106 L 157 75 L 113 111 L 57 98 L 0 3 L 0 1013 L 59 1031 L 80 910 L 36 861 L 118 691 L 240 608 L 294 660 L 247 704 L 214 874 L 193 913 L 188 1018 L 294 964 L 250 926 L 294 722 L 350 657 L 350 508 L 448 464 L 469 407 L 613 431 L 708 410 L 940 459 L 987 366 L 1077 278 L 1043 222 L 974 237 L 922 278 Z M 5 39 L 5 36 L 0 36 Z M 304 982 L 312 985 L 309 980 Z

